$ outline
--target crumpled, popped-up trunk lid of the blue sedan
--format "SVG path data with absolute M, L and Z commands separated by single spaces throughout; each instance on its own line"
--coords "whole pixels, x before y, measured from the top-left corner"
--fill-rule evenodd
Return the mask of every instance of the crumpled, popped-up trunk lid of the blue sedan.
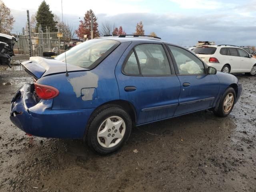
M 50 74 L 66 72 L 66 63 L 55 59 L 30 57 L 29 61 L 22 62 L 21 65 L 24 66 L 26 72 L 34 76 L 36 80 Z M 68 72 L 88 70 L 71 64 L 67 64 L 67 69 Z

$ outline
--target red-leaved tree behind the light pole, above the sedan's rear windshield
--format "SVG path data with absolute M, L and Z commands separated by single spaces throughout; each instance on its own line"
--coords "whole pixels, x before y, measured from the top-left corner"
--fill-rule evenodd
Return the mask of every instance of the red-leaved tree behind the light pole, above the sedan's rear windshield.
M 87 38 L 91 38 L 91 13 L 92 10 L 90 9 L 89 11 L 84 14 L 84 20 L 80 20 L 80 24 L 78 26 L 78 29 L 75 31 L 78 38 L 83 39 L 84 35 L 87 35 Z M 98 31 L 98 23 L 97 23 L 97 18 L 95 14 L 93 13 L 93 37 L 99 37 L 99 31 Z

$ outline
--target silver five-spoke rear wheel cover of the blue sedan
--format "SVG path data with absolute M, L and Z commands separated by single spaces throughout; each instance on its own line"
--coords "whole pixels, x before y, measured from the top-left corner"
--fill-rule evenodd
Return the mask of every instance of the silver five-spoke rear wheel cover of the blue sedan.
M 107 118 L 98 128 L 98 143 L 104 148 L 116 146 L 124 137 L 125 129 L 125 122 L 121 117 L 111 116 Z

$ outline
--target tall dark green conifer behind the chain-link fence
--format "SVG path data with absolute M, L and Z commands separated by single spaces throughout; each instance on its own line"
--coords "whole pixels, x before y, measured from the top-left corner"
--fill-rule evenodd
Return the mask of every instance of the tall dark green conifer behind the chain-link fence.
M 56 27 L 57 22 L 54 21 L 54 14 L 52 14 L 52 11 L 50 11 L 50 6 L 46 4 L 45 0 L 42 1 L 37 10 L 36 32 L 38 32 L 40 24 L 43 32 L 46 32 L 46 26 L 47 28 L 50 27 L 50 32 L 58 32 Z

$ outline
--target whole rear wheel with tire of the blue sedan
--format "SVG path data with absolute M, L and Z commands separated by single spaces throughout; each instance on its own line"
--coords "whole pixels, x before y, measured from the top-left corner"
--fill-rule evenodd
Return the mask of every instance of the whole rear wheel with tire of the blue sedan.
M 120 106 L 107 105 L 92 115 L 86 142 L 98 154 L 110 154 L 128 140 L 132 130 L 129 114 Z

